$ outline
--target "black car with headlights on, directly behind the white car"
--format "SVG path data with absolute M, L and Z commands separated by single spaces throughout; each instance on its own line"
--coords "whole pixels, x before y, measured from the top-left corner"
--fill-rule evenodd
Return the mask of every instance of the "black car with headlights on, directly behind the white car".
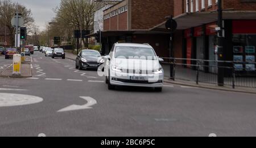
M 98 69 L 104 64 L 100 52 L 97 50 L 84 49 L 76 57 L 76 69 Z

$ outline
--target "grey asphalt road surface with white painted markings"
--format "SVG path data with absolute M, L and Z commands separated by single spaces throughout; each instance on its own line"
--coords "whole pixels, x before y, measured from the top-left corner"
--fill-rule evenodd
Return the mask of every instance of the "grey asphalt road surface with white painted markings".
M 38 52 L 32 67 L 31 78 L 0 78 L 0 136 L 256 136 L 255 94 L 170 83 L 109 91 L 97 71 Z

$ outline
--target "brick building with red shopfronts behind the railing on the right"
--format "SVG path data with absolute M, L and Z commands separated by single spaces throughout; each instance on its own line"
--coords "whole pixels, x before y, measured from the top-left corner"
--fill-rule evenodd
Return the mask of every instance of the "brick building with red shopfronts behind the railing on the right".
M 216 60 L 214 49 L 217 44 L 217 1 L 218 0 L 174 0 L 174 19 L 178 27 L 174 35 L 174 56 Z M 255 61 L 256 46 L 256 1 L 222 0 L 226 61 Z M 160 23 L 154 29 L 164 29 Z M 193 64 L 184 61 L 184 64 Z M 209 62 L 209 66 L 214 65 Z M 237 64 L 255 72 L 253 64 Z M 208 69 L 204 69 L 208 72 Z M 209 72 L 216 73 L 216 71 Z M 255 74 L 255 73 L 254 73 Z

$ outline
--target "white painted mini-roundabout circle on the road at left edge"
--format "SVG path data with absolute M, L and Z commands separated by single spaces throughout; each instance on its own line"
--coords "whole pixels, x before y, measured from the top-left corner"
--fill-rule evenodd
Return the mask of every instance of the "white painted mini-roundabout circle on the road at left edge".
M 0 93 L 0 107 L 35 104 L 42 101 L 43 99 L 38 96 Z

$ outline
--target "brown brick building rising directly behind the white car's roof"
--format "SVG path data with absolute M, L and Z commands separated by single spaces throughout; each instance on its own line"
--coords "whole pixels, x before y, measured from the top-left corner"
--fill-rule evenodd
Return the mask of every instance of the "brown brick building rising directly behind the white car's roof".
M 124 0 L 104 10 L 103 52 L 118 41 L 148 43 L 159 56 L 168 56 L 168 32 L 151 28 L 173 15 L 173 5 L 173 0 Z

